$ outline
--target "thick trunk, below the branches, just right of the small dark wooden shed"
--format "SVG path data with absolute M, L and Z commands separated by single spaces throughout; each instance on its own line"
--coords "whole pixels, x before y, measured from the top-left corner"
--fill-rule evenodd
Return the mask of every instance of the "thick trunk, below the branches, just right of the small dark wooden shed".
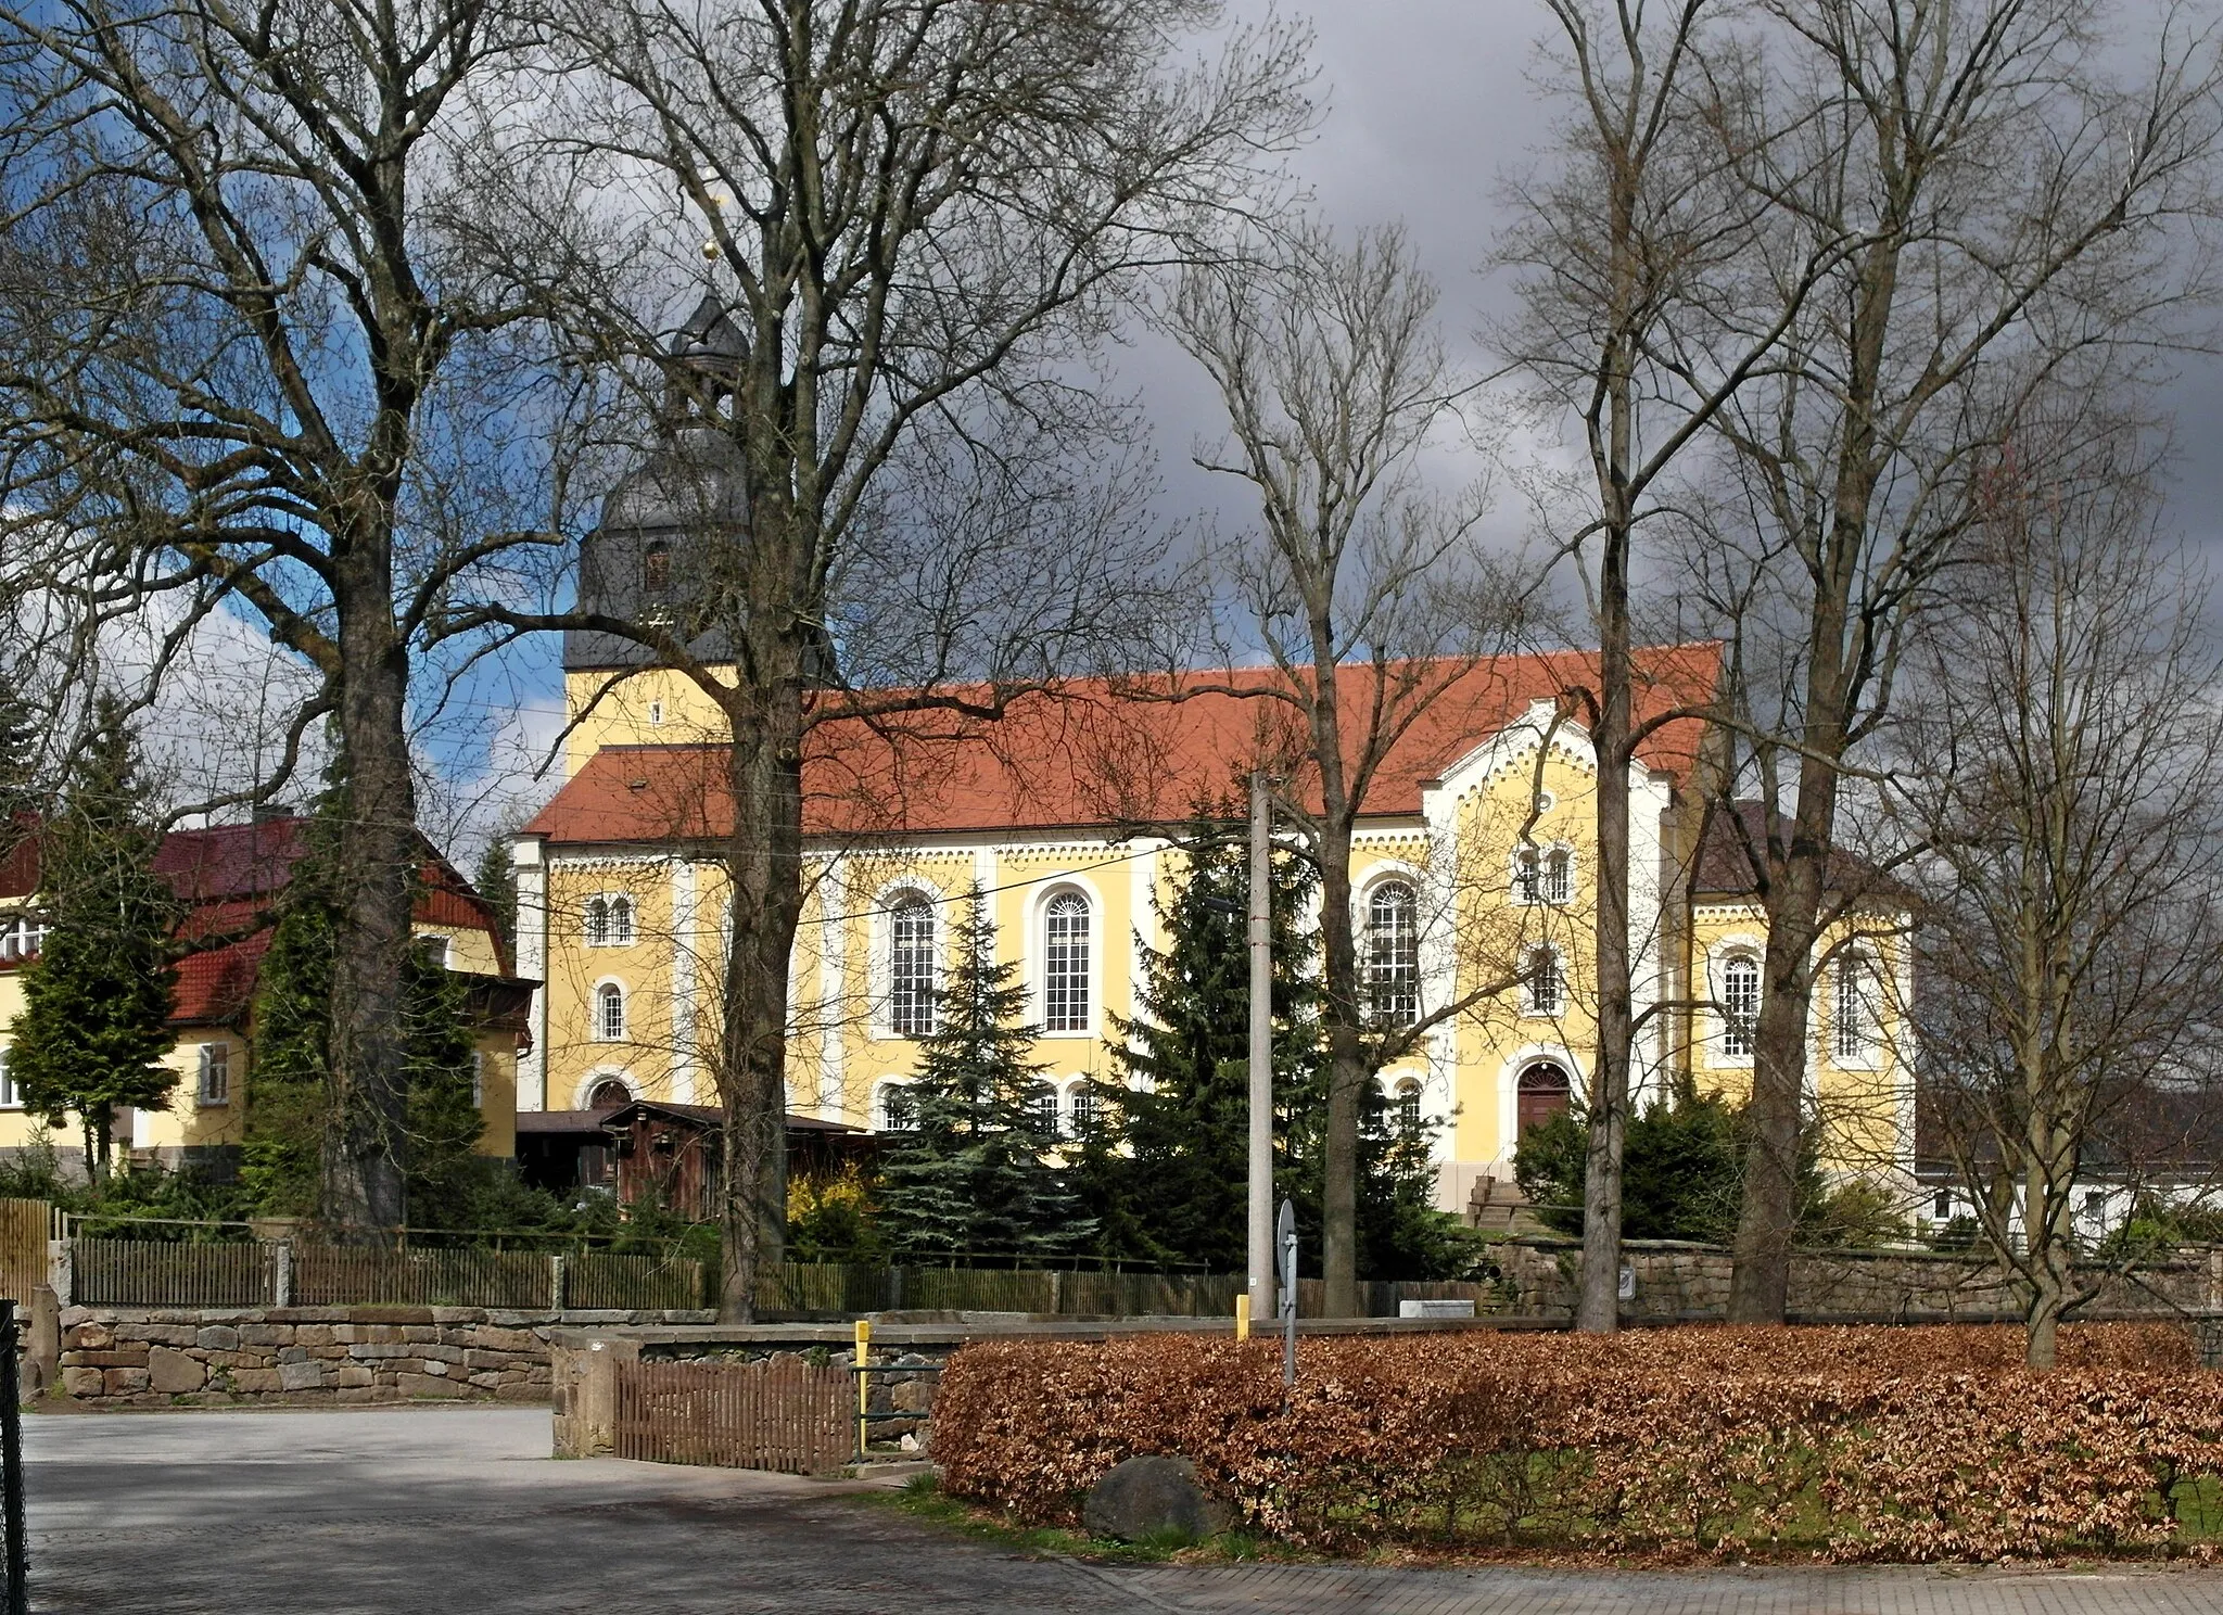
M 787 1244 L 787 975 L 803 913 L 800 678 L 771 691 L 742 686 L 736 709 L 725 860 L 734 917 L 716 1060 L 725 1113 L 718 1320 L 747 1324 L 756 1277 Z

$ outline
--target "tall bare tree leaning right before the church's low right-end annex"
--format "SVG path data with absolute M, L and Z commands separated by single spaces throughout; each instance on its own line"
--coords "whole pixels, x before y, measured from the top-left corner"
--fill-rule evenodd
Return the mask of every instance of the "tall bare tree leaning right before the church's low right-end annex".
M 1883 722 L 1910 624 L 1967 520 L 1974 471 L 2047 387 L 2103 387 L 2167 335 L 2190 284 L 2176 224 L 2205 211 L 2219 131 L 2203 42 L 2099 64 L 2092 0 L 1783 0 L 1761 53 L 1783 136 L 1738 171 L 1765 222 L 1743 282 L 1798 289 L 1778 353 L 1716 418 L 1738 524 L 1694 571 L 1734 638 L 1738 771 L 1767 804 L 1752 1153 L 1729 1315 L 1781 1320 L 1810 997 L 1847 760 Z M 1776 315 L 1756 315 L 1774 320 Z M 1721 338 L 1745 353 L 1745 327 Z

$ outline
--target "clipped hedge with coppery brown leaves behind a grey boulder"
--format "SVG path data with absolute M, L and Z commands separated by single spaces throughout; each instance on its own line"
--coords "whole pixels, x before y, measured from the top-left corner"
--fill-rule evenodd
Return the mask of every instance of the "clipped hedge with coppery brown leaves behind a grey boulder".
M 2154 1553 L 2223 1537 L 2223 1373 L 2183 1328 L 1672 1328 L 1605 1340 L 980 1342 L 934 1400 L 945 1491 L 1076 1524 L 1180 1453 L 1249 1531 L 1834 1559 Z

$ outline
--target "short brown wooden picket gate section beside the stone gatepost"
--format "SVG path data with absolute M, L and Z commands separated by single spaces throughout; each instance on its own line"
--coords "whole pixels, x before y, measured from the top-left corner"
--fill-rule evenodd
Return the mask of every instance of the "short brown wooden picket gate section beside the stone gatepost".
M 765 1362 L 620 1362 L 618 1457 L 818 1475 L 856 1448 L 856 1375 L 794 1355 Z

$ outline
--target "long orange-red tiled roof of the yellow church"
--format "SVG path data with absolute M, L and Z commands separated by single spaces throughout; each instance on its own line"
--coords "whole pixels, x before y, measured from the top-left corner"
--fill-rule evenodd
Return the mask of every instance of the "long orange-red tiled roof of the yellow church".
M 1718 644 L 1636 653 L 1638 722 L 1712 704 Z M 1392 684 L 1427 680 L 1441 664 L 1392 664 Z M 1485 744 L 1538 700 L 1569 702 L 1596 684 L 1587 651 L 1501 655 L 1454 673 L 1396 738 L 1367 793 L 1369 815 L 1414 815 L 1423 786 Z M 1272 689 L 1269 669 L 1192 673 L 1183 700 L 1163 684 L 1132 691 L 1089 680 L 1011 704 L 1000 722 L 925 715 L 811 731 L 803 769 L 805 831 L 936 833 L 1163 824 L 1198 800 L 1234 795 L 1254 762 L 1300 755 L 1296 711 L 1247 691 Z M 1376 671 L 1345 666 L 1345 711 L 1365 713 Z M 1392 693 L 1394 695 L 1394 693 Z M 1352 724 L 1358 726 L 1356 722 Z M 1696 764 L 1705 724 L 1674 718 L 1638 749 L 1678 782 Z M 1356 738 L 1354 738 L 1356 744 Z M 725 749 L 605 746 L 556 793 L 525 835 L 554 842 L 638 844 L 707 840 L 731 829 Z

